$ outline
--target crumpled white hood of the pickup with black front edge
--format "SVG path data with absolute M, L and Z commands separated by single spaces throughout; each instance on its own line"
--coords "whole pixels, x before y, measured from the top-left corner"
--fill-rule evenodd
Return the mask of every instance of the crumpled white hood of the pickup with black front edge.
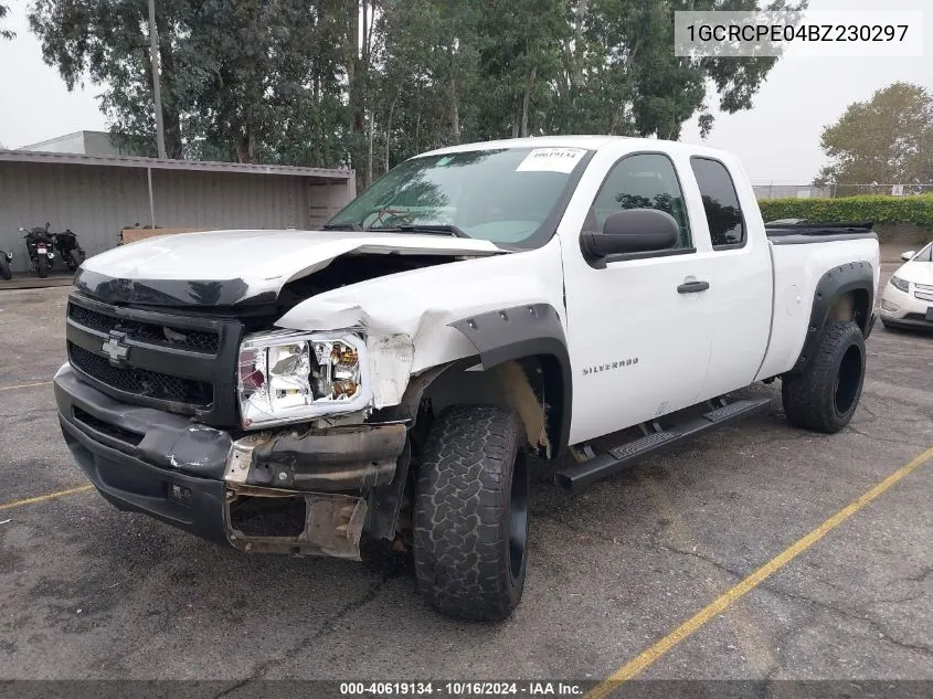
M 126 303 L 233 305 L 271 300 L 288 282 L 347 253 L 478 257 L 489 241 L 351 231 L 209 231 L 150 237 L 84 262 L 75 286 Z

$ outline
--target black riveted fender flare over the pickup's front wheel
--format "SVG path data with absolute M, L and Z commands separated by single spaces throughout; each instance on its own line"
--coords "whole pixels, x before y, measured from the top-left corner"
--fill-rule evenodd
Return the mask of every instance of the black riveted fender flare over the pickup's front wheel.
M 515 359 L 552 357 L 561 374 L 561 400 L 548 417 L 552 456 L 568 446 L 573 404 L 573 374 L 561 318 L 550 304 L 524 304 L 468 316 L 449 324 L 473 342 L 484 370 Z M 553 413 L 560 411 L 556 415 Z M 553 422 L 552 422 L 553 420 Z M 556 437 L 556 438 L 555 438 Z

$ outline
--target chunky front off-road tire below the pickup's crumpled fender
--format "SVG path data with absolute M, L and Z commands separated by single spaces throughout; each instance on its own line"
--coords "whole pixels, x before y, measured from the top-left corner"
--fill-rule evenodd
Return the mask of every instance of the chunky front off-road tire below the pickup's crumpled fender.
M 529 476 L 516 413 L 445 409 L 427 435 L 415 489 L 418 590 L 442 614 L 498 621 L 524 587 Z

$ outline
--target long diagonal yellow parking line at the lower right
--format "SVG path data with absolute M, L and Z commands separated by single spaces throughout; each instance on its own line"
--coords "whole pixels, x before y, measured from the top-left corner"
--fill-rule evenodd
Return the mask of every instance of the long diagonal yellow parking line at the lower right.
M 643 672 L 645 669 L 656 663 L 661 656 L 667 654 L 671 648 L 686 638 L 689 638 L 700 628 L 702 628 L 713 617 L 722 614 L 730 606 L 735 604 L 739 600 L 744 597 L 749 592 L 763 583 L 772 573 L 776 573 L 782 568 L 787 565 L 791 561 L 797 558 L 801 553 L 809 549 L 817 541 L 823 539 L 826 534 L 833 531 L 836 527 L 845 522 L 852 515 L 865 508 L 869 502 L 874 500 L 878 496 L 888 490 L 891 486 L 897 484 L 902 478 L 909 476 L 914 470 L 923 466 L 927 460 L 933 458 L 933 447 L 926 449 L 915 459 L 902 466 L 893 474 L 888 476 L 884 480 L 876 485 L 868 493 L 862 495 L 857 500 L 849 502 L 841 510 L 836 512 L 833 517 L 823 522 L 819 527 L 810 531 L 808 534 L 798 539 L 789 547 L 784 549 L 776 557 L 771 559 L 767 563 L 757 569 L 754 573 L 745 578 L 738 585 L 722 594 L 714 602 L 708 604 L 702 610 L 697 612 L 689 619 L 683 622 L 680 626 L 675 628 L 670 634 L 658 640 L 651 647 L 643 650 L 639 655 L 630 659 L 628 663 L 618 668 L 615 672 L 609 675 L 605 680 L 591 689 L 584 699 L 602 699 L 612 693 L 621 684 L 628 681 L 636 675 Z

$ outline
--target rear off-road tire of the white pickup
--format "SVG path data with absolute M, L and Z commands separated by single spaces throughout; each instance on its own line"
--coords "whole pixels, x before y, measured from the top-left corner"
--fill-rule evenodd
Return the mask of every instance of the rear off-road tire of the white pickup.
M 807 368 L 782 380 L 787 422 L 833 434 L 849 424 L 865 381 L 865 338 L 852 322 L 826 324 Z

